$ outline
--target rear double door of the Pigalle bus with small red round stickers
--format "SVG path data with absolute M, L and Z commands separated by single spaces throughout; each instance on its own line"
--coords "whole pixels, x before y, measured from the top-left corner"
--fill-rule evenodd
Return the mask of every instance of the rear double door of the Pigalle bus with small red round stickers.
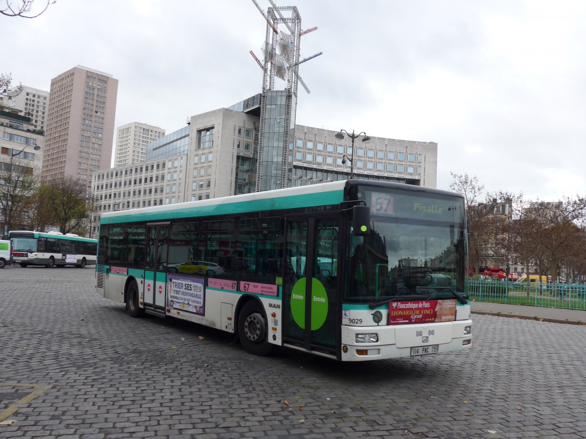
M 149 314 L 165 314 L 169 223 L 147 224 L 143 303 Z

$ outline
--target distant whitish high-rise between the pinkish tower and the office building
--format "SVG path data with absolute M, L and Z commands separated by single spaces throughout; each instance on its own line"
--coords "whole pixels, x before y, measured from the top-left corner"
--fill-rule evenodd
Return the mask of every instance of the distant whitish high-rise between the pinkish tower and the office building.
M 147 145 L 164 135 L 164 129 L 140 122 L 119 126 L 114 166 L 144 162 L 147 159 Z

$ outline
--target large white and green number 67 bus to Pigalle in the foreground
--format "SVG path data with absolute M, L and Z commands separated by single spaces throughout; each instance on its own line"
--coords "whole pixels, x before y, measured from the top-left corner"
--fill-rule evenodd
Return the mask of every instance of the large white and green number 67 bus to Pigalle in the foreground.
M 132 317 L 340 361 L 471 347 L 464 198 L 346 180 L 105 213 L 99 294 Z

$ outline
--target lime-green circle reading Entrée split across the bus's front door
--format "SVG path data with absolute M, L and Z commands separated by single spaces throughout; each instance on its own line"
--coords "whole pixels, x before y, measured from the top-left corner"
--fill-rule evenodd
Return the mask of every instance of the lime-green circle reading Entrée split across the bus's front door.
M 302 277 L 293 286 L 291 291 L 291 313 L 295 323 L 301 329 L 305 329 L 305 287 L 306 277 Z M 311 279 L 311 330 L 315 331 L 322 327 L 328 317 L 328 294 L 318 279 Z

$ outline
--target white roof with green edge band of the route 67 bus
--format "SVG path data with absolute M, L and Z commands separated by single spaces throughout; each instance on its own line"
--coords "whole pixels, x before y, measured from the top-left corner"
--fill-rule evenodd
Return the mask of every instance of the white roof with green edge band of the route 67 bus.
M 101 215 L 100 224 L 117 224 L 128 221 L 158 221 L 161 219 L 205 217 L 208 215 L 339 204 L 343 201 L 345 188 L 359 184 L 368 184 L 373 187 L 400 188 L 402 190 L 420 191 L 422 193 L 449 194 L 451 196 L 461 197 L 457 193 L 403 183 L 390 183 L 388 181 L 376 180 L 340 180 L 251 194 L 210 198 L 209 200 L 186 201 L 185 203 L 105 212 Z

